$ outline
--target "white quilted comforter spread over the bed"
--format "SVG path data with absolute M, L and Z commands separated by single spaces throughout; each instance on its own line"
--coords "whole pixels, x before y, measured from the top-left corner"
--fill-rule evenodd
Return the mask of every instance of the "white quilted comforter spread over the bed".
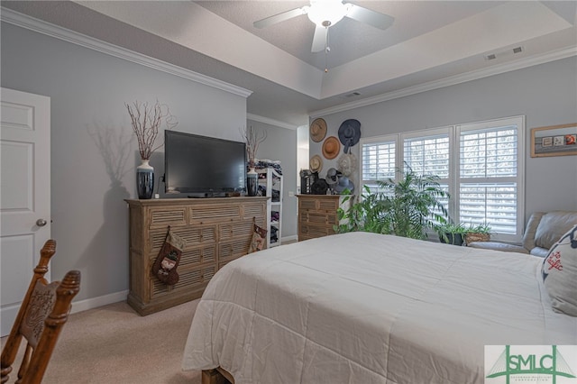
M 543 259 L 372 233 L 252 253 L 216 273 L 184 370 L 243 383 L 482 383 L 484 345 L 577 344 Z

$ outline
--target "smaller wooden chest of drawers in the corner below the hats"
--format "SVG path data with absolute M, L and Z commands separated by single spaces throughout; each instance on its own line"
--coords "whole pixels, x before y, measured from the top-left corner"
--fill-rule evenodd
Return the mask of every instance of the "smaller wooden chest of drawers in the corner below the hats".
M 298 241 L 334 234 L 333 225 L 339 224 L 336 210 L 339 206 L 343 206 L 343 196 L 297 195 L 297 197 Z M 344 206 L 343 208 L 346 209 Z

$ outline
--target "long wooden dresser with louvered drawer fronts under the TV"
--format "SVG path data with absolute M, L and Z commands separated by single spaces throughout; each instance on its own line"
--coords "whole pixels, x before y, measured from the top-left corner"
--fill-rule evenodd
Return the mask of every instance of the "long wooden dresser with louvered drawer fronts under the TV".
M 269 197 L 126 200 L 130 215 L 128 304 L 149 315 L 202 296 L 227 262 L 248 252 L 252 224 L 266 225 Z M 187 241 L 179 282 L 166 286 L 151 273 L 168 227 Z

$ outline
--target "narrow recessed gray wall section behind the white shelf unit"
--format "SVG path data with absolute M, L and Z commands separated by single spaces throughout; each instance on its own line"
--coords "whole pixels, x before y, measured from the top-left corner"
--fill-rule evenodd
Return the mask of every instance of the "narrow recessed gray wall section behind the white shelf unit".
M 280 160 L 282 167 L 281 238 L 297 236 L 297 130 L 280 128 L 267 123 L 247 122 L 257 132 L 265 131 L 267 138 L 259 146 L 257 159 Z M 292 196 L 289 196 L 292 192 Z

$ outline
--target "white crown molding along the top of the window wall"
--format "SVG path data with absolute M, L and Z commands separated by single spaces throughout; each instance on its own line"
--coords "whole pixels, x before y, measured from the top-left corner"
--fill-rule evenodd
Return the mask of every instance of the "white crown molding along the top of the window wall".
M 334 107 L 313 111 L 309 115 L 309 118 L 314 119 L 316 117 L 325 116 L 327 114 L 336 114 L 339 112 L 345 112 L 362 106 L 374 105 L 382 103 L 384 101 L 393 100 L 399 97 L 416 95 L 433 89 L 454 86 L 457 84 L 466 83 L 468 81 L 477 80 L 480 78 L 489 78 L 490 76 L 499 75 L 501 73 L 506 73 L 517 69 L 525 69 L 539 64 L 545 64 L 550 61 L 566 59 L 572 56 L 577 56 L 577 47 L 568 47 L 563 48 L 561 50 L 553 50 L 551 52 L 547 52 L 542 55 L 535 55 L 526 59 L 518 59 L 508 63 L 495 65 L 488 69 L 472 70 L 471 72 L 466 72 L 461 75 L 455 75 L 449 78 L 443 78 L 441 80 L 430 81 L 428 83 L 420 84 L 415 87 L 407 87 L 399 89 L 397 91 L 388 92 L 386 94 L 382 94 L 379 96 L 367 97 L 365 99 L 354 101 L 351 103 L 336 105 Z

